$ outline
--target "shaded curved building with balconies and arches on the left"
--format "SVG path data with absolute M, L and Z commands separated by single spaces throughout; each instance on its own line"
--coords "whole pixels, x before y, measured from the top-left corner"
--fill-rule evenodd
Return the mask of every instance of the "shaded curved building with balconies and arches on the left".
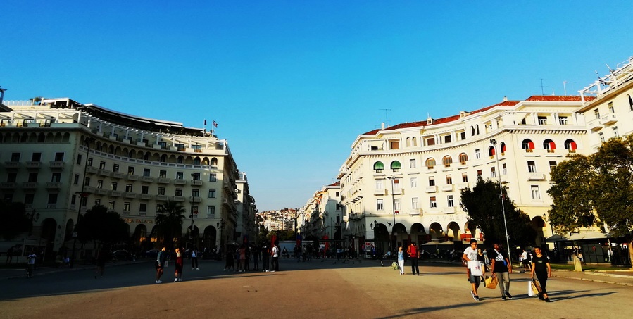
M 147 248 L 158 206 L 176 201 L 188 217 L 186 244 L 200 249 L 237 240 L 237 205 L 254 206 L 227 140 L 213 132 L 72 99 L 3 104 L 0 194 L 38 216 L 32 236 L 49 252 L 68 247 L 78 214 L 97 204 L 123 215 L 134 244 Z

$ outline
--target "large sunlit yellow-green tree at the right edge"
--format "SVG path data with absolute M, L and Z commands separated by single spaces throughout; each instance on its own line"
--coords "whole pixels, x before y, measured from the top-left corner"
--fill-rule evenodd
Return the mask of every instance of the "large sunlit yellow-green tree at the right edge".
M 633 261 L 633 135 L 609 139 L 590 156 L 570 156 L 551 180 L 549 218 L 557 230 L 606 225 L 625 237 Z

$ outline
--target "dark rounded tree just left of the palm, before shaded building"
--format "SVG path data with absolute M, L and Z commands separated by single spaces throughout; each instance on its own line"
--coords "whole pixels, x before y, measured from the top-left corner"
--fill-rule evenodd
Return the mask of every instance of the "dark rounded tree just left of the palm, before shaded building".
M 80 242 L 116 244 L 128 236 L 123 218 L 115 211 L 108 211 L 105 206 L 93 206 L 77 223 L 77 239 Z

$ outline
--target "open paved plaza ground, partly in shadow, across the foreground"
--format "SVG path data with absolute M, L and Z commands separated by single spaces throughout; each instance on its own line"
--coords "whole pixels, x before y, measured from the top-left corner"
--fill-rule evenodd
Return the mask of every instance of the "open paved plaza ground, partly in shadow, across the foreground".
M 465 268 L 421 263 L 422 275 L 399 275 L 377 261 L 333 263 L 282 260 L 276 273 L 223 271 L 223 261 L 185 267 L 173 282 L 173 265 L 154 283 L 153 263 L 106 268 L 95 280 L 92 268 L 41 270 L 32 279 L 0 279 L 1 318 L 627 318 L 631 278 L 605 277 L 610 284 L 557 273 L 548 284 L 553 302 L 527 296 L 529 275 L 511 275 L 514 299 L 480 287 L 470 296 Z M 18 271 L 18 270 L 11 270 Z M 622 306 L 624 305 L 624 306 Z

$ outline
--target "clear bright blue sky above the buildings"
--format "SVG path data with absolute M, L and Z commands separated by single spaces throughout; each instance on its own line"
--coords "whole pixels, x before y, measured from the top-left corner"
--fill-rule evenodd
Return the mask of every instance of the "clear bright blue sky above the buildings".
M 6 100 L 218 123 L 259 211 L 335 182 L 356 137 L 534 94 L 633 56 L 633 1 L 74 1 L 0 5 Z M 563 82 L 567 81 L 565 87 Z M 541 86 L 542 83 L 542 86 Z M 390 111 L 384 111 L 389 109 Z

